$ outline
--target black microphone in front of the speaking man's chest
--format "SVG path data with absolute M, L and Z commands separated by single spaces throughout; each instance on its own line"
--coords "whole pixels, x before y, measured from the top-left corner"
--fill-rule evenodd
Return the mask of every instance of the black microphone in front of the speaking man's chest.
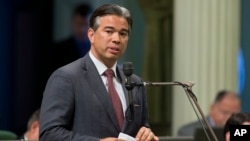
M 134 120 L 134 104 L 133 104 L 133 94 L 132 89 L 134 88 L 131 82 L 131 75 L 133 74 L 133 64 L 131 62 L 126 62 L 123 64 L 123 73 L 126 76 L 125 87 L 128 90 L 128 100 L 129 100 L 129 110 L 126 110 L 126 119 L 128 121 Z

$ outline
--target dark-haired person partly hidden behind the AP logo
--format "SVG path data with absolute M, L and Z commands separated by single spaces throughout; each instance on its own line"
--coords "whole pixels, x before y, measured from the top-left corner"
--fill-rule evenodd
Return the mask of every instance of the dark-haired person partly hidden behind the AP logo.
M 225 141 L 230 141 L 229 128 L 231 125 L 250 125 L 250 113 L 236 113 L 227 120 L 224 126 Z

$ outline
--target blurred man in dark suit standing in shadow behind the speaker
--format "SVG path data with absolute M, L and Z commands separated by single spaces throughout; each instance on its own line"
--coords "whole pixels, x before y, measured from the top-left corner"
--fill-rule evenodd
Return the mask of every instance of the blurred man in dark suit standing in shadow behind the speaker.
M 88 53 L 90 42 L 87 31 L 91 12 L 91 6 L 86 3 L 79 4 L 74 9 L 71 21 L 72 35 L 56 43 L 51 51 L 50 63 L 52 71 Z

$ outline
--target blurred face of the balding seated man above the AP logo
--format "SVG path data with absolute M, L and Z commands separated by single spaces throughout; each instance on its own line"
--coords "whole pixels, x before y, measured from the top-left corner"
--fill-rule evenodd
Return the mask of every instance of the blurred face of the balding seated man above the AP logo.
M 210 112 L 215 125 L 224 126 L 231 114 L 240 112 L 240 101 L 228 95 L 221 102 L 213 104 Z

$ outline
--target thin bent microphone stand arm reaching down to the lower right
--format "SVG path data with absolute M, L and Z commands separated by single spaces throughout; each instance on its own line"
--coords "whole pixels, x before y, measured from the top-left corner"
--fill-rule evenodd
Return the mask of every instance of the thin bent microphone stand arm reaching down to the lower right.
M 205 127 L 204 127 L 204 125 L 203 125 L 200 117 L 198 116 L 196 109 L 198 109 L 198 112 L 201 115 L 201 117 L 202 117 L 205 125 L 207 126 L 208 131 L 212 135 L 213 141 L 218 141 L 218 138 L 216 137 L 214 131 L 211 128 L 211 126 L 209 125 L 209 123 L 208 123 L 208 121 L 207 121 L 207 119 L 206 119 L 206 117 L 205 117 L 202 109 L 200 108 L 200 105 L 197 102 L 197 98 L 196 98 L 195 94 L 192 91 L 192 86 L 194 85 L 194 83 L 191 83 L 191 82 L 182 83 L 182 82 L 178 82 L 178 81 L 175 81 L 175 82 L 143 82 L 143 83 L 140 83 L 140 84 L 135 84 L 134 83 L 134 85 L 136 85 L 136 86 L 146 86 L 146 85 L 149 85 L 149 86 L 165 86 L 165 85 L 182 86 L 182 88 L 184 89 L 184 91 L 185 91 L 185 93 L 186 93 L 186 95 L 187 95 L 187 97 L 189 99 L 190 104 L 192 105 L 193 110 L 196 113 L 196 116 L 198 117 L 198 119 L 199 119 L 199 121 L 200 121 L 200 123 L 202 125 L 202 128 L 203 128 L 203 130 L 204 130 L 207 138 L 210 141 L 210 138 L 209 138 L 209 136 L 207 134 L 207 131 L 206 131 L 206 129 L 205 129 Z M 193 103 L 195 104 L 195 106 L 194 106 Z

